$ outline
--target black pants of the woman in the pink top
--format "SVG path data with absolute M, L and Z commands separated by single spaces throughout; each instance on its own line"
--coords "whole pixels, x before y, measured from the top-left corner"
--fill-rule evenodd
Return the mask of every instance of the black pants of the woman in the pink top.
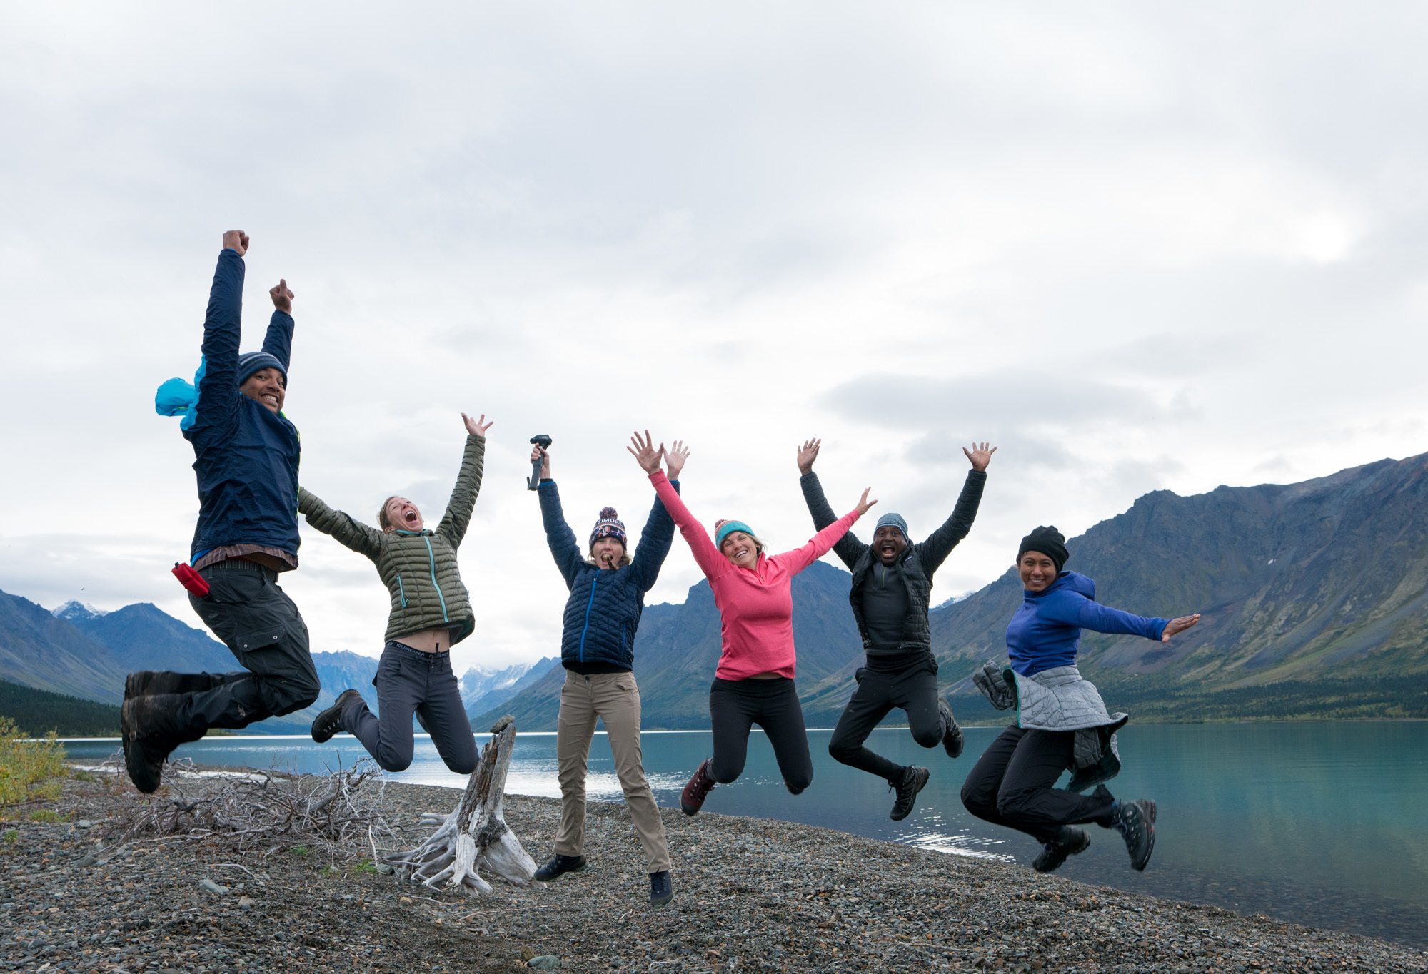
M 798 794 L 813 784 L 813 755 L 803 723 L 798 693 L 788 677 L 773 680 L 720 680 L 710 686 L 710 720 L 714 724 L 714 758 L 710 775 L 728 784 L 744 773 L 748 730 L 764 728 L 774 745 L 784 785 Z

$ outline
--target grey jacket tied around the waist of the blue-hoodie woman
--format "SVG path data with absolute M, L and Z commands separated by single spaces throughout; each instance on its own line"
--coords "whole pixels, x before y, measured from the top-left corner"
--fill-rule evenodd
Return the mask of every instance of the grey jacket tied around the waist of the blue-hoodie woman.
M 1027 730 L 1075 731 L 1071 791 L 1085 791 L 1121 773 L 1115 731 L 1130 720 L 1105 710 L 1101 691 L 1074 666 L 1024 677 L 1011 667 L 987 663 L 972 683 L 997 710 L 1017 707 L 1017 726 Z

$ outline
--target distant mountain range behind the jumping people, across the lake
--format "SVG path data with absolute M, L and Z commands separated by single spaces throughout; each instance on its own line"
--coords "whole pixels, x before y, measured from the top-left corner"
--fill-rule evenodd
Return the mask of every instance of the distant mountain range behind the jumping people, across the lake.
M 1102 603 L 1204 617 L 1168 644 L 1087 634 L 1081 668 L 1112 707 L 1141 720 L 1428 717 L 1428 454 L 1288 486 L 1154 491 L 1068 547 L 1068 567 L 1097 580 Z M 833 726 L 863 664 L 848 584 L 847 571 L 823 561 L 794 581 L 810 726 Z M 1005 658 L 1007 621 L 1021 597 L 1008 570 L 931 613 L 941 680 L 964 718 L 1005 720 L 968 677 L 984 660 Z M 647 607 L 635 641 L 644 726 L 707 727 L 718 653 L 708 583 L 691 587 L 683 604 Z M 314 708 L 254 730 L 306 731 L 346 687 L 374 698 L 374 658 L 314 660 L 323 683 Z M 150 604 L 99 613 L 66 603 L 50 613 L 0 593 L 0 680 L 117 704 L 124 674 L 139 668 L 227 671 L 234 661 L 207 633 Z M 563 680 L 554 658 L 471 670 L 463 700 L 477 727 L 514 713 L 524 728 L 551 730 Z

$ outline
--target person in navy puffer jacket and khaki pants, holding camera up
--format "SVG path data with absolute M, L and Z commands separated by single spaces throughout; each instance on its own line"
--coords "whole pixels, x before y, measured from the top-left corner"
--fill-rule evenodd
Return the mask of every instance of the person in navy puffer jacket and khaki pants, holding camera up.
M 670 480 L 675 481 L 688 450 L 675 443 L 667 453 Z M 595 720 L 604 720 L 610 751 L 630 817 L 640 833 L 650 873 L 650 903 L 664 905 L 674 897 L 670 880 L 670 848 L 664 838 L 660 808 L 644 777 L 640 753 L 640 687 L 634 681 L 634 634 L 644 611 L 644 594 L 654 587 L 660 567 L 674 541 L 674 521 L 664 504 L 654 501 L 634 557 L 628 554 L 624 524 L 613 507 L 600 511 L 581 548 L 560 508 L 560 493 L 550 476 L 550 453 L 531 450 L 541 461 L 540 496 L 545 541 L 555 567 L 565 578 L 565 601 L 560 661 L 565 684 L 560 691 L 555 753 L 560 765 L 560 831 L 555 854 L 536 871 L 548 883 L 564 873 L 585 867 L 585 763 Z M 678 484 L 675 483 L 675 488 Z

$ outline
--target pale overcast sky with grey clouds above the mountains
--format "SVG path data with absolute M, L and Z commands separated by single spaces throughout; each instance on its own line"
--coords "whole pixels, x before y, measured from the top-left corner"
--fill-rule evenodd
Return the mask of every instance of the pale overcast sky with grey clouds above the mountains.
M 0 7 L 0 588 L 153 601 L 197 514 L 154 387 L 191 376 L 220 239 L 244 348 L 297 293 L 301 480 L 436 523 L 494 417 L 457 667 L 558 653 L 528 438 L 584 538 L 653 490 L 775 548 L 871 484 L 914 540 L 992 461 L 934 596 L 1150 490 L 1428 450 L 1422 4 Z M 871 516 L 870 516 L 871 517 Z M 870 533 L 871 523 L 857 528 Z M 677 540 L 650 601 L 698 571 Z M 304 528 L 314 650 L 387 597 Z M 1184 611 L 1200 608 L 1185 606 Z M 851 626 L 851 617 L 848 620 Z

